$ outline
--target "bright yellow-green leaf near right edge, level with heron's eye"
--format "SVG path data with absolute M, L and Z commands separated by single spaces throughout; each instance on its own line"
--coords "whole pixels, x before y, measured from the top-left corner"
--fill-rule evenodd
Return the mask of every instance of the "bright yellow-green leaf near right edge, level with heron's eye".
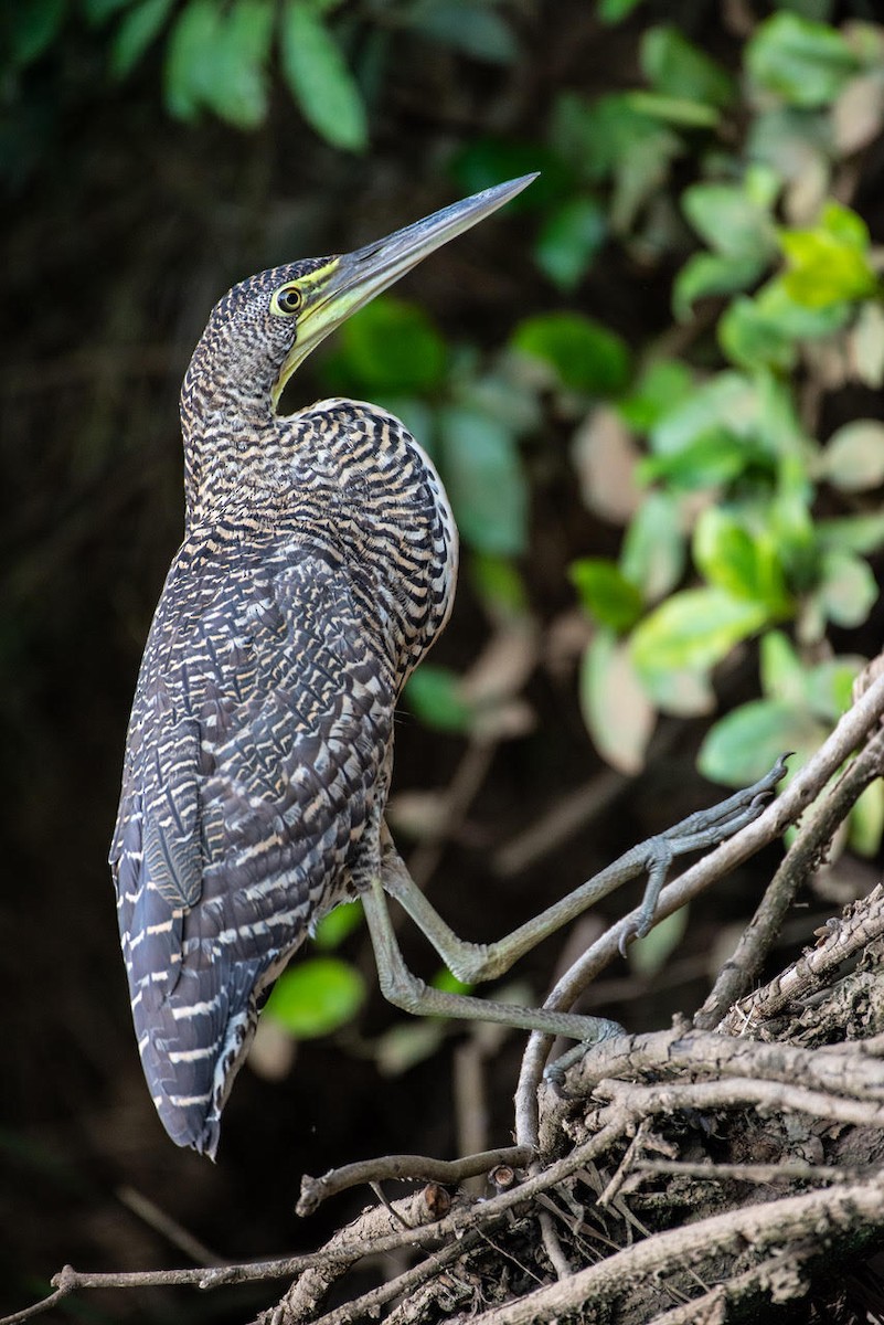
M 863 299 L 877 290 L 865 224 L 840 203 L 827 203 L 813 229 L 779 231 L 789 262 L 786 294 L 807 309 Z

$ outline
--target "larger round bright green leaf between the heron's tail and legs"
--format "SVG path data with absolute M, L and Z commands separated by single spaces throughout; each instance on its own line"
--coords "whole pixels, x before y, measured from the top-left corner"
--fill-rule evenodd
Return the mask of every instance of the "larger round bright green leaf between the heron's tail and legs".
M 277 980 L 263 1016 L 299 1040 L 330 1035 L 352 1022 L 365 999 L 363 977 L 336 957 L 311 957 Z

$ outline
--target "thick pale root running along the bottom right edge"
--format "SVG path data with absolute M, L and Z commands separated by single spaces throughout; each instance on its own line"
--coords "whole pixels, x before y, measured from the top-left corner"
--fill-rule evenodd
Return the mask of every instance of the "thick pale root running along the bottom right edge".
M 838 1236 L 881 1224 L 884 1189 L 877 1182 L 785 1196 L 656 1234 L 570 1279 L 547 1284 L 471 1320 L 472 1325 L 539 1325 L 578 1313 L 589 1302 L 622 1298 L 631 1284 L 647 1283 L 654 1275 L 695 1267 L 711 1257 L 744 1255 L 746 1247 L 764 1255 L 806 1238 L 818 1248 Z

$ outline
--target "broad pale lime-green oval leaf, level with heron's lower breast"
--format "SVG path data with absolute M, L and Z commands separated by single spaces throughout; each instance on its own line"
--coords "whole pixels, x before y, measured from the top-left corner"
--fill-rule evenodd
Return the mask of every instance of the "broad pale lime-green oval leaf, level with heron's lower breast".
M 674 594 L 641 621 L 631 636 L 639 674 L 684 668 L 699 672 L 727 657 L 734 644 L 769 619 L 764 603 L 734 598 L 723 588 Z

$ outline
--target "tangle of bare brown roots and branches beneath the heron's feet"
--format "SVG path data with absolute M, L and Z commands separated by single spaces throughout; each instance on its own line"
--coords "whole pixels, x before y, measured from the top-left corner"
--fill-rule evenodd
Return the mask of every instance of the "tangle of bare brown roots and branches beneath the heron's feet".
M 798 1300 L 832 1257 L 856 1259 L 884 1242 L 884 886 L 809 935 L 813 946 L 746 994 L 797 889 L 880 775 L 881 713 L 877 677 L 760 819 L 663 890 L 660 916 L 820 798 L 693 1026 L 607 1040 L 561 1089 L 540 1085 L 548 1044 L 532 1035 L 516 1098 L 519 1145 L 451 1163 L 388 1157 L 306 1179 L 304 1210 L 353 1182 L 429 1183 L 368 1208 L 314 1253 L 126 1275 L 65 1267 L 48 1298 L 0 1325 L 83 1289 L 273 1279 L 292 1283 L 259 1325 L 344 1325 L 380 1314 L 392 1325 L 520 1325 L 569 1313 L 680 1325 L 723 1320 L 736 1305 Z M 545 1006 L 568 1008 L 617 954 L 629 924 L 626 917 L 593 943 Z M 490 1175 L 488 1199 L 451 1196 L 439 1186 L 478 1173 Z M 333 1284 L 389 1252 L 413 1264 L 323 1314 Z

